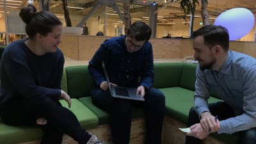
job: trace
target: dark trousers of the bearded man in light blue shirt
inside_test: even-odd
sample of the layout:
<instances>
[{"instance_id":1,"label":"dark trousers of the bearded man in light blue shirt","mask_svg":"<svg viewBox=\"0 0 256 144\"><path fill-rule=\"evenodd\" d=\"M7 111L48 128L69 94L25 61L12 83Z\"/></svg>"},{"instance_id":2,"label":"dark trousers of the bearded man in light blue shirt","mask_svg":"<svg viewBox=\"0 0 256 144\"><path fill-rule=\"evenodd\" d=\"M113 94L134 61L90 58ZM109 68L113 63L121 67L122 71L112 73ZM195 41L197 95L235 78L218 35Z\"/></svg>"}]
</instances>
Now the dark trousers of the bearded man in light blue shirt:
<instances>
[{"instance_id":1,"label":"dark trousers of the bearded man in light blue shirt","mask_svg":"<svg viewBox=\"0 0 256 144\"><path fill-rule=\"evenodd\" d=\"M216 116L218 115L219 120L225 120L227 118L231 118L236 116L234 111L230 106L228 106L225 102L216 102L209 104L209 110L211 114ZM199 117L193 108L189 111L188 118L188 127L191 125L200 123ZM237 144L255 144L256 143L256 128L248 129L246 131L237 132L239 134L239 139ZM202 140L192 137L186 136L186 144L200 144Z\"/></svg>"}]
</instances>

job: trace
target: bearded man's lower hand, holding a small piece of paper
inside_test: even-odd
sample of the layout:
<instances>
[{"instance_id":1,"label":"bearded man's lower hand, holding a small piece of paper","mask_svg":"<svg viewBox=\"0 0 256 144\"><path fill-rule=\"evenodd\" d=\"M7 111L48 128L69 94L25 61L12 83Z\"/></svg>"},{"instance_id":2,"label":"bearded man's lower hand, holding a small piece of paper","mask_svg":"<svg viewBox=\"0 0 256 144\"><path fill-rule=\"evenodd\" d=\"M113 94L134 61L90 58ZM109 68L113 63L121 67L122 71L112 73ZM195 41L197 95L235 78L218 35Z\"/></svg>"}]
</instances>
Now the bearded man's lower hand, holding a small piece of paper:
<instances>
[{"instance_id":1,"label":"bearded man's lower hand, holding a small piece of paper","mask_svg":"<svg viewBox=\"0 0 256 144\"><path fill-rule=\"evenodd\" d=\"M199 138L201 140L210 134L209 130L205 131L200 123L192 125L190 129L191 131L187 133L187 136L194 136L195 138Z\"/></svg>"}]
</instances>

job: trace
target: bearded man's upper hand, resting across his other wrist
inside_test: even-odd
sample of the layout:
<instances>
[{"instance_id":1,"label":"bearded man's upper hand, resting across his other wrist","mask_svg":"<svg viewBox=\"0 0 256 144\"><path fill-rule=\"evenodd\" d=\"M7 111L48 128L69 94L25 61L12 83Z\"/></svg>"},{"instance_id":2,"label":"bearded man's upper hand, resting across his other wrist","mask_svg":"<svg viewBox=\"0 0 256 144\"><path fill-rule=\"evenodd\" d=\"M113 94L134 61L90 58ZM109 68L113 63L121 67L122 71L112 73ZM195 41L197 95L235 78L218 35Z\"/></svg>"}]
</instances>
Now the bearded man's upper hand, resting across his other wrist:
<instances>
[{"instance_id":1,"label":"bearded man's upper hand, resting across his other wrist","mask_svg":"<svg viewBox=\"0 0 256 144\"><path fill-rule=\"evenodd\" d=\"M200 123L204 131L218 132L220 130L220 122L210 112L201 114Z\"/></svg>"}]
</instances>

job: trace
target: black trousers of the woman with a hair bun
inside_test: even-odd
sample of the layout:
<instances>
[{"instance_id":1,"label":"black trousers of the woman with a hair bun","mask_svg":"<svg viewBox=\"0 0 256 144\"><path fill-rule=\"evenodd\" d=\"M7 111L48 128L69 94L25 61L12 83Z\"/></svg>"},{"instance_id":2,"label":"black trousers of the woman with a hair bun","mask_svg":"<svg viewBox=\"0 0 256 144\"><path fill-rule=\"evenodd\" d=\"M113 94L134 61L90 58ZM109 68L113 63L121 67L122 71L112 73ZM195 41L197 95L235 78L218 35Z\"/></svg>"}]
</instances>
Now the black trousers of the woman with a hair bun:
<instances>
[{"instance_id":1,"label":"black trousers of the woman with a hair bun","mask_svg":"<svg viewBox=\"0 0 256 144\"><path fill-rule=\"evenodd\" d=\"M85 144L91 137L72 111L49 97L17 100L1 108L1 119L5 124L36 125L38 118L47 119L46 125L38 125L44 131L41 144L61 144L63 133L79 144Z\"/></svg>"}]
</instances>

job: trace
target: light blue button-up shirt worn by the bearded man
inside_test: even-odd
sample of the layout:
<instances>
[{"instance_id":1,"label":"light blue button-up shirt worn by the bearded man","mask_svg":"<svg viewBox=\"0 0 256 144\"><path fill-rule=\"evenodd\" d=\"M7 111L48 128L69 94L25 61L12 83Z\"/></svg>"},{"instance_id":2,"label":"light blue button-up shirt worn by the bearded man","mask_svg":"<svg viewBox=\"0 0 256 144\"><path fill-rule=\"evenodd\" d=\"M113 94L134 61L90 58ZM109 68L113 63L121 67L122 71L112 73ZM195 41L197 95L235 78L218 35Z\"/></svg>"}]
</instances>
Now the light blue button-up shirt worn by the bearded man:
<instances>
[{"instance_id":1,"label":"light blue button-up shirt worn by the bearded man","mask_svg":"<svg viewBox=\"0 0 256 144\"><path fill-rule=\"evenodd\" d=\"M237 115L220 121L218 133L232 134L256 127L256 59L228 51L220 72L196 68L195 111L209 111L207 99L213 90Z\"/></svg>"}]
</instances>

